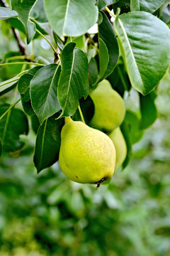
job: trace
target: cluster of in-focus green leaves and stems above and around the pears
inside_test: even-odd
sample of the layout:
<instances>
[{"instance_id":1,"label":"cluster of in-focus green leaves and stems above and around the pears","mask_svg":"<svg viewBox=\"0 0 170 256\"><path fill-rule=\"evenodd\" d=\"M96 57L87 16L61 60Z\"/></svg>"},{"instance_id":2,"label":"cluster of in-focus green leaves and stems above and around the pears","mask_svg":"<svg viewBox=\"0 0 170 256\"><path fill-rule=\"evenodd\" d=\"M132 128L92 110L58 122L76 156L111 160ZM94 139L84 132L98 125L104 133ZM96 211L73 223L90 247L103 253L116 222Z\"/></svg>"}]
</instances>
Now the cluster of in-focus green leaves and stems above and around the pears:
<instances>
[{"instance_id":1,"label":"cluster of in-focus green leaves and stems above and around the pears","mask_svg":"<svg viewBox=\"0 0 170 256\"><path fill-rule=\"evenodd\" d=\"M169 1L0 3L1 28L8 26L19 49L2 56L0 63L0 154L19 154L20 135L33 129L38 172L54 164L63 117L80 119L80 105L89 124L94 114L89 93L108 79L124 99L135 92L139 103L126 112L121 127L128 146L125 168L132 144L157 119L157 85L170 64ZM97 31L91 33L91 26ZM39 37L52 48L53 58L36 55L34 43ZM32 44L31 53L26 44Z\"/></svg>"}]
</instances>

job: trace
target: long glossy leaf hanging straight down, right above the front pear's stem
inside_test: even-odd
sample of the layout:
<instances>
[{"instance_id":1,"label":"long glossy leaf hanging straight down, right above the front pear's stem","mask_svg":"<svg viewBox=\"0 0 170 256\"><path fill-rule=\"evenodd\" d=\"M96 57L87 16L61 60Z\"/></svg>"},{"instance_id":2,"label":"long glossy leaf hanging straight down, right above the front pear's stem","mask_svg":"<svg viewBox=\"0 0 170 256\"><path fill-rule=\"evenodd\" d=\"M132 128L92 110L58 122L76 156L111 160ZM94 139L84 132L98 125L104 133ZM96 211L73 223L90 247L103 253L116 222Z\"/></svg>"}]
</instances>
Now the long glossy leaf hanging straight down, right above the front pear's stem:
<instances>
[{"instance_id":1,"label":"long glossy leaf hanging straight down, right above the front pear's stem","mask_svg":"<svg viewBox=\"0 0 170 256\"><path fill-rule=\"evenodd\" d=\"M79 99L89 93L88 60L85 53L68 43L62 50L62 71L58 84L58 100L63 117L69 117L77 110Z\"/></svg>"}]
</instances>

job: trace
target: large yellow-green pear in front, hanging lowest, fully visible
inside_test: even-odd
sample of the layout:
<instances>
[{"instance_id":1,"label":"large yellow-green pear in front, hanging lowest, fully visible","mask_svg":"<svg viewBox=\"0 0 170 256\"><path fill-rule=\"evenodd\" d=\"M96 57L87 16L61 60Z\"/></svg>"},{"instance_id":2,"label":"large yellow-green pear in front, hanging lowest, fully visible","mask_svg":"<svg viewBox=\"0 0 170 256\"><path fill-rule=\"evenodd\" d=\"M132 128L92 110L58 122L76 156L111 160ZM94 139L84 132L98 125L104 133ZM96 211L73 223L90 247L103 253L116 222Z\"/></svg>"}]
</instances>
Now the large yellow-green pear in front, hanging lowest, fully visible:
<instances>
[{"instance_id":1,"label":"large yellow-green pear in front, hanging lowest, fully visible","mask_svg":"<svg viewBox=\"0 0 170 256\"><path fill-rule=\"evenodd\" d=\"M78 183L100 183L113 176L115 146L101 131L66 117L62 127L59 164Z\"/></svg>"}]
</instances>

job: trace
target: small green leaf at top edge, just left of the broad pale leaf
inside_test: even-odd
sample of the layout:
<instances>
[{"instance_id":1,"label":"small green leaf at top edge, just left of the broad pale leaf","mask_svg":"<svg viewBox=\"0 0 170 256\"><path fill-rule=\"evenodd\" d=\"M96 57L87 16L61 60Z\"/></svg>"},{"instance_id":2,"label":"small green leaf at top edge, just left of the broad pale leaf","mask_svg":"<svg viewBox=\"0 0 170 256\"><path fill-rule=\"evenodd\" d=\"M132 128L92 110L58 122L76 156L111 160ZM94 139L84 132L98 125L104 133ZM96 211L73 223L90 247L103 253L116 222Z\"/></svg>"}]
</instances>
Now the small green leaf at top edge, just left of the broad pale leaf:
<instances>
[{"instance_id":1,"label":"small green leaf at top edge, just left of the broad pale leaf","mask_svg":"<svg viewBox=\"0 0 170 256\"><path fill-rule=\"evenodd\" d=\"M35 2L35 5L30 13L30 17L34 18L40 23L48 22L44 9L44 0L38 0Z\"/></svg>"}]
</instances>

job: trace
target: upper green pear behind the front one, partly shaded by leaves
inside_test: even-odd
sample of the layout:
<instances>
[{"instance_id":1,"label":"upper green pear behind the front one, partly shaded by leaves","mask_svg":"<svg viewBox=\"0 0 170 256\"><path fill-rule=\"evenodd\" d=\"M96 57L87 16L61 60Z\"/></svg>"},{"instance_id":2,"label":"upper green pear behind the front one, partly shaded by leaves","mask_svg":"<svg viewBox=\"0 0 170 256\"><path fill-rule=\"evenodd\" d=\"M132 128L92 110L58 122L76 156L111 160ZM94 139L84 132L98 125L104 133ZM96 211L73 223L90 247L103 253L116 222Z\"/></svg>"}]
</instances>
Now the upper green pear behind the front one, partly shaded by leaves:
<instances>
[{"instance_id":1,"label":"upper green pear behind the front one, partly shaded by leaves","mask_svg":"<svg viewBox=\"0 0 170 256\"><path fill-rule=\"evenodd\" d=\"M125 102L118 92L113 90L110 82L108 80L99 82L90 96L95 106L90 125L104 129L106 132L119 127L125 117Z\"/></svg>"}]
</instances>

